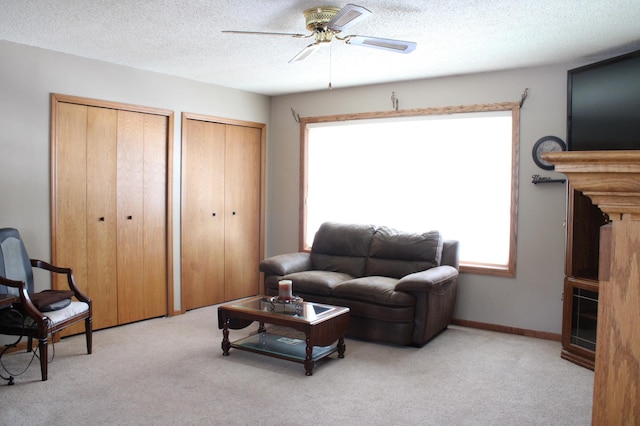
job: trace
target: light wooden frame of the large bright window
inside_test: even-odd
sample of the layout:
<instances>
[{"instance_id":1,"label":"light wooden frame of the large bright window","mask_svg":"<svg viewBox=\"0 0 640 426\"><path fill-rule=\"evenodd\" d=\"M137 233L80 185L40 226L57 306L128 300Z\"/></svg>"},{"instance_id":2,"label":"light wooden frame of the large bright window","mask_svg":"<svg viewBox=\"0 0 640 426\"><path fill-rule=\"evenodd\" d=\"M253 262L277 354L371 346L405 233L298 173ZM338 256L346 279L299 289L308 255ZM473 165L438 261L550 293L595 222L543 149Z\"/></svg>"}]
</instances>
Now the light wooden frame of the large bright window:
<instances>
[{"instance_id":1,"label":"light wooden frame of the large bright window","mask_svg":"<svg viewBox=\"0 0 640 426\"><path fill-rule=\"evenodd\" d=\"M301 171L300 171L300 249L308 251L310 247L306 243L307 241L307 190L308 190L308 130L314 125L319 123L336 123L353 121L353 120L380 120L380 119L394 119L405 117L419 117L419 116L451 116L451 114L469 114L476 112L511 112L511 131L512 131L512 143L511 143L511 203L509 211L509 249L508 249L508 261L504 264L489 264L480 262L471 262L461 259L460 271L466 273L478 273L486 275L497 275L506 277L515 277L516 274L516 236L517 236L517 212L518 212L518 174L519 174L519 145L520 145L520 104L513 102L494 103L494 104L479 104L469 106L457 106L457 107L445 107L445 108L427 108L427 109L415 109L404 111L389 111L389 112L376 112L376 113L361 113L361 114L345 114L323 117L306 117L300 119L300 158L301 158ZM482 160L481 160L482 161ZM485 159L485 161L490 161ZM491 167L490 163L487 167ZM453 173L464 173L459 170L452 170ZM446 177L445 177L446 178ZM474 177L482 179L481 176ZM443 182L443 184L446 182ZM470 220L473 220L473 213L470 212ZM384 225L384 224L383 224ZM491 236L490 227L487 224L487 233ZM426 229L424 231L429 231ZM446 235L445 235L446 237Z\"/></svg>"}]
</instances>

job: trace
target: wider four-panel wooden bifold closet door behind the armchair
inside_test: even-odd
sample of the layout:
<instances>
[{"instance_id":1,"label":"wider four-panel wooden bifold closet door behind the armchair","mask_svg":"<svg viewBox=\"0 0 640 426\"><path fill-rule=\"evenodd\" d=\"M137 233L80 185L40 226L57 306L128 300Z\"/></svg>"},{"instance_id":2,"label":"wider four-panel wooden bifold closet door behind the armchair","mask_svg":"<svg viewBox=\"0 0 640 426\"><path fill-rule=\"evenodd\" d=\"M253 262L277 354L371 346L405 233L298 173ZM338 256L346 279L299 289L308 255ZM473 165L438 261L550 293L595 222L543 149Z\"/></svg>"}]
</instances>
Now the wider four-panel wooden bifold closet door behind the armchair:
<instances>
[{"instance_id":1,"label":"wider four-panel wooden bifold closet door behind the armchair","mask_svg":"<svg viewBox=\"0 0 640 426\"><path fill-rule=\"evenodd\" d=\"M94 329L169 313L171 116L52 95L52 259L91 297Z\"/></svg>"}]
</instances>

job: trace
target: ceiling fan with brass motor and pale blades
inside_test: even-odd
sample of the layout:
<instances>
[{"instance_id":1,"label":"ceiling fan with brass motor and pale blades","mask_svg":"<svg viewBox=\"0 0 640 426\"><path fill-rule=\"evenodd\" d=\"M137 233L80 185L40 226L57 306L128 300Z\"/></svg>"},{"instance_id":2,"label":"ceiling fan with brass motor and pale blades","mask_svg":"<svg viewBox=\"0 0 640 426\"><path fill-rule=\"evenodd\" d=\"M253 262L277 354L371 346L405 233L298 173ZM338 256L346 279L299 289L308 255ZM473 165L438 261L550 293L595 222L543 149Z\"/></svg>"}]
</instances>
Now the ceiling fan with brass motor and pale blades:
<instances>
[{"instance_id":1,"label":"ceiling fan with brass motor and pale blades","mask_svg":"<svg viewBox=\"0 0 640 426\"><path fill-rule=\"evenodd\" d=\"M340 9L334 6L317 6L304 11L304 18L310 34L278 33L262 31L222 31L223 33L235 34L258 34L258 35L284 35L296 38L315 37L315 42L311 43L295 55L289 63L302 61L315 52L319 47L331 43L336 38L347 44L356 46L373 47L397 53L410 53L416 48L416 43L412 41L393 40L379 37L368 37L361 35L339 36L344 30L356 22L371 15L371 11L362 6L347 4Z\"/></svg>"}]
</instances>

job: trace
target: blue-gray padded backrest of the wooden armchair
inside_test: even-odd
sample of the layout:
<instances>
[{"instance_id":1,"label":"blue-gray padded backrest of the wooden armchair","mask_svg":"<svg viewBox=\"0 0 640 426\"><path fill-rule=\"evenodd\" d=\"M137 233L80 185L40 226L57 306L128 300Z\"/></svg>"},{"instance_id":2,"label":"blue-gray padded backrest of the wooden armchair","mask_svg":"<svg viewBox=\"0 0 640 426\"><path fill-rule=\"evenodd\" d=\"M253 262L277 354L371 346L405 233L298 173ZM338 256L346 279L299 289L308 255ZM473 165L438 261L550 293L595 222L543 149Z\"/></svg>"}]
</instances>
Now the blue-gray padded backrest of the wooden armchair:
<instances>
[{"instance_id":1,"label":"blue-gray padded backrest of the wooden armchair","mask_svg":"<svg viewBox=\"0 0 640 426\"><path fill-rule=\"evenodd\" d=\"M0 229L0 276L27 283L27 292L33 293L33 269L20 233L14 228ZM0 285L0 293L18 295L14 287Z\"/></svg>"}]
</instances>

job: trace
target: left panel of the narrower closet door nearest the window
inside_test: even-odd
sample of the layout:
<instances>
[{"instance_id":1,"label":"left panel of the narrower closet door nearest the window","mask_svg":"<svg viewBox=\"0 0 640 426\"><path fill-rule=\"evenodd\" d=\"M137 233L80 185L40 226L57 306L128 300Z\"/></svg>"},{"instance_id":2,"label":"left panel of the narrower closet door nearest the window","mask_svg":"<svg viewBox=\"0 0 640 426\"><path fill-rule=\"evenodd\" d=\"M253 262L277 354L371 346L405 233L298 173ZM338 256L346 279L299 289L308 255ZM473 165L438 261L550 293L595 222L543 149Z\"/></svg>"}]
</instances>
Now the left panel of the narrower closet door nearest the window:
<instances>
[{"instance_id":1,"label":"left panel of the narrower closet door nearest the window","mask_svg":"<svg viewBox=\"0 0 640 426\"><path fill-rule=\"evenodd\" d=\"M186 120L182 297L185 309L224 301L225 126Z\"/></svg>"}]
</instances>

